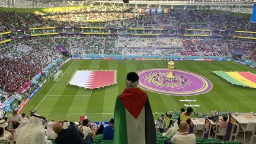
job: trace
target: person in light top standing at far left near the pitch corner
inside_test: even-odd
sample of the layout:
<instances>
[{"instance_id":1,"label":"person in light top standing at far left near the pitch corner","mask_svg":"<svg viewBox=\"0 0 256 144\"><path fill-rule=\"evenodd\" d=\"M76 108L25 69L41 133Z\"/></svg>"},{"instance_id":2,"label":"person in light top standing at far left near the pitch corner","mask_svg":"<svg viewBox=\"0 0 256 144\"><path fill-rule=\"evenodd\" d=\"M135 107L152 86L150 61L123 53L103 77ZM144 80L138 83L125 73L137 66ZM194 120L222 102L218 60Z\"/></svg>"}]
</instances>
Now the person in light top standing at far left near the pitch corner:
<instances>
[{"instance_id":1,"label":"person in light top standing at far left near the pitch corner","mask_svg":"<svg viewBox=\"0 0 256 144\"><path fill-rule=\"evenodd\" d=\"M11 129L16 129L21 120L22 116L18 114L18 110L12 110L12 114L8 116L7 122L9 123Z\"/></svg>"}]
</instances>

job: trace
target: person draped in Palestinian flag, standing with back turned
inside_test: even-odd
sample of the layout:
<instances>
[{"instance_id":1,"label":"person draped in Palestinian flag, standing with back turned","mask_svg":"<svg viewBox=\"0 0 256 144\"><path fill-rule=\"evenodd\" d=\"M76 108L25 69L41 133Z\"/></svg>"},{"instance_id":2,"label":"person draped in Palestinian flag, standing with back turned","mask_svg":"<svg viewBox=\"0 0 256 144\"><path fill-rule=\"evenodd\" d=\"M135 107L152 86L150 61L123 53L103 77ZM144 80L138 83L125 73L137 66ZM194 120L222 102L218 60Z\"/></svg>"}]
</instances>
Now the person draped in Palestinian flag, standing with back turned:
<instances>
[{"instance_id":1,"label":"person draped in Palestinian flag, standing with back turned","mask_svg":"<svg viewBox=\"0 0 256 144\"><path fill-rule=\"evenodd\" d=\"M126 89L117 96L114 111L115 144L155 144L156 130L151 105L146 92L136 88L139 76L129 72Z\"/></svg>"}]
</instances>

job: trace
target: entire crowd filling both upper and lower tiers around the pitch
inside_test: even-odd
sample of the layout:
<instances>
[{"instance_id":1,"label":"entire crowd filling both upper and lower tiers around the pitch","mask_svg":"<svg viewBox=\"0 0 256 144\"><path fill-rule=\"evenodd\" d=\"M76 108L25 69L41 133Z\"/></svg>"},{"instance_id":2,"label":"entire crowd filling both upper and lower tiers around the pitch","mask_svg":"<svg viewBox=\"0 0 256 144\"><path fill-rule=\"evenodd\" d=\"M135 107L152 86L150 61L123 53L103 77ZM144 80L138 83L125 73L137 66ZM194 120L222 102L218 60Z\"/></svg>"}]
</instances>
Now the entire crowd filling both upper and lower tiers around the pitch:
<instances>
[{"instance_id":1,"label":"entire crowd filling both upper and lower tiers around the pitch","mask_svg":"<svg viewBox=\"0 0 256 144\"><path fill-rule=\"evenodd\" d=\"M31 27L100 26L106 28L199 28L255 30L249 17L223 15L207 10L169 9L167 14L141 13L123 7L81 7L62 11L20 13L0 11L0 32ZM91 23L89 21L98 21ZM93 33L94 30L85 29ZM106 33L108 30L101 30ZM163 32L164 33L164 32ZM169 32L168 32L169 33ZM5 37L1 36L1 41ZM243 59L255 62L255 43L223 39L178 39L173 37L60 37L34 41L18 40L1 46L0 88L2 95L17 91L42 68L60 57L55 46L63 45L73 55L227 56L243 50ZM7 96L8 98L9 96Z\"/></svg>"}]
</instances>

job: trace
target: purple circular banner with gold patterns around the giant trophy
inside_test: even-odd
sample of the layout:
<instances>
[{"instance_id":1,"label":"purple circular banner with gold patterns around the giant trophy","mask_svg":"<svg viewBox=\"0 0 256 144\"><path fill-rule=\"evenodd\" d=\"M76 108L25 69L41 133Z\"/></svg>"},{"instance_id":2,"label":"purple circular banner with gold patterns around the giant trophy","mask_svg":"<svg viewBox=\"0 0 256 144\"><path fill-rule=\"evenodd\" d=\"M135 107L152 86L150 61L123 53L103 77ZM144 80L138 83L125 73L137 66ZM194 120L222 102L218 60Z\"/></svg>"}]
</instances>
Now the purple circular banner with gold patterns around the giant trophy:
<instances>
[{"instance_id":1,"label":"purple circular banner with gold patterns around the giant trophy","mask_svg":"<svg viewBox=\"0 0 256 144\"><path fill-rule=\"evenodd\" d=\"M167 81L168 69L143 69L138 71L138 87L165 95L199 95L209 92L213 85L209 79L193 72L175 69L174 81Z\"/></svg>"}]
</instances>

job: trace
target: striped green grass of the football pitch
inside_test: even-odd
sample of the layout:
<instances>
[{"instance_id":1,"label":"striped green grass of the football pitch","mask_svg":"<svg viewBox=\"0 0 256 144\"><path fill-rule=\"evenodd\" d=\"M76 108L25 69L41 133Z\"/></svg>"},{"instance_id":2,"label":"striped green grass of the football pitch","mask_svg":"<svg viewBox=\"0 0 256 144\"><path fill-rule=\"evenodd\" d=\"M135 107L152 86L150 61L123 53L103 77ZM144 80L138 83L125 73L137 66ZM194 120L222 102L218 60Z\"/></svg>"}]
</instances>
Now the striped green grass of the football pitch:
<instances>
[{"instance_id":1,"label":"striped green grass of the football pitch","mask_svg":"<svg viewBox=\"0 0 256 144\"><path fill-rule=\"evenodd\" d=\"M47 119L58 121L78 121L79 116L88 116L92 121L108 121L113 117L117 95L125 87L127 72L149 68L167 68L166 60L70 60L62 66L63 76L59 81L47 81L46 84L28 101L21 113L29 114L35 110ZM72 73L82 69L117 70L118 83L113 87L94 89L69 87L66 82ZM210 92L188 97L162 95L148 92L153 113L179 110L184 104L200 104L194 107L199 113L210 113L212 110L250 112L256 111L256 89L243 88L228 84L210 71L251 71L255 69L236 62L221 61L175 61L175 69L198 73L209 79L213 88ZM180 102L180 100L196 102Z\"/></svg>"}]
</instances>

